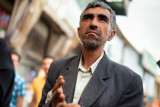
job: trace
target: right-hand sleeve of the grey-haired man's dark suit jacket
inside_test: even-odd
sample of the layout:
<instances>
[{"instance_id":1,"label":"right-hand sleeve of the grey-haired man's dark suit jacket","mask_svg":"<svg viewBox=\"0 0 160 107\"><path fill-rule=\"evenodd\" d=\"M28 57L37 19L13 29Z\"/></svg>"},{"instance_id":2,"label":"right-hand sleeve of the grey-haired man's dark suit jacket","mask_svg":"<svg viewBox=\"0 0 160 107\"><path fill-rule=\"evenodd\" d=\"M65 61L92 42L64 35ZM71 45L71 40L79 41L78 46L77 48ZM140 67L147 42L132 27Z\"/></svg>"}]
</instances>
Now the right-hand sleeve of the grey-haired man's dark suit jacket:
<instances>
[{"instance_id":1,"label":"right-hand sleeve of the grey-haired man's dark suit jacket","mask_svg":"<svg viewBox=\"0 0 160 107\"><path fill-rule=\"evenodd\" d=\"M131 81L116 107L143 107L143 83L139 75Z\"/></svg>"}]
</instances>

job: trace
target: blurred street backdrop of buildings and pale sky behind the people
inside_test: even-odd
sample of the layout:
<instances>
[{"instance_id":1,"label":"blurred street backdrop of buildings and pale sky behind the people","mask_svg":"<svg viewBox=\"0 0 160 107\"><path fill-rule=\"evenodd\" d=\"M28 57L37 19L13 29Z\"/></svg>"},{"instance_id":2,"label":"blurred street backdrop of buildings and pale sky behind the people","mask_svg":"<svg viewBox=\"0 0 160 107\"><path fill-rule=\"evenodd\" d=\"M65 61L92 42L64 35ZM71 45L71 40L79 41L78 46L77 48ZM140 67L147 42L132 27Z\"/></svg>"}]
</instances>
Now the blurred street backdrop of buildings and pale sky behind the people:
<instances>
[{"instance_id":1,"label":"blurred street backdrop of buildings and pale sky behind the people","mask_svg":"<svg viewBox=\"0 0 160 107\"><path fill-rule=\"evenodd\" d=\"M95 0L0 0L0 37L21 55L19 74L28 89L44 56L81 52L79 16ZM144 107L160 99L160 1L102 0L117 14L116 36L104 50L143 79ZM24 107L31 100L26 95Z\"/></svg>"}]
</instances>

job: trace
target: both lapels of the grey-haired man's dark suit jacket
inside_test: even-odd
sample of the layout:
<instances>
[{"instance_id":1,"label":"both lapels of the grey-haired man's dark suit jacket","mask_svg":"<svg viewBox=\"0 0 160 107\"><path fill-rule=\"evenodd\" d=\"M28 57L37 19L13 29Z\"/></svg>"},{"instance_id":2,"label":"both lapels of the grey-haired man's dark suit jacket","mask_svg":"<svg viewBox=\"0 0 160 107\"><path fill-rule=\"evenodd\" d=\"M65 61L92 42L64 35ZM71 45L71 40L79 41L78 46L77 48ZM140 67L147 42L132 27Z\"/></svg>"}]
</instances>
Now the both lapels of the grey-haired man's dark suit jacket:
<instances>
[{"instance_id":1,"label":"both lapels of the grey-haired man's dark suit jacket","mask_svg":"<svg viewBox=\"0 0 160 107\"><path fill-rule=\"evenodd\" d=\"M67 103L71 103L73 101L79 61L80 55L71 60L66 71L62 72L62 75L65 79L63 91ZM88 85L85 87L81 95L81 99L79 101L81 105L85 105L87 107L91 106L107 88L108 84L104 82L104 80L107 80L111 77L109 72L109 64L110 60L108 59L106 53L104 53L103 58L99 62Z\"/></svg>"}]
</instances>

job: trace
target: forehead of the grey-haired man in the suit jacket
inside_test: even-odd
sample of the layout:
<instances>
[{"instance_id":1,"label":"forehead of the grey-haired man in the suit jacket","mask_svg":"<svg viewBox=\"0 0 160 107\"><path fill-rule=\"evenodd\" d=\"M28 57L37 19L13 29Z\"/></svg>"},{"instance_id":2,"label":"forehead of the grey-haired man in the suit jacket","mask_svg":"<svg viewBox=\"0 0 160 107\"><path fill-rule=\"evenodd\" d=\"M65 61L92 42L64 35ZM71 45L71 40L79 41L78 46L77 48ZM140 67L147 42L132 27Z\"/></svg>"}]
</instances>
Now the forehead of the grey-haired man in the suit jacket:
<instances>
[{"instance_id":1,"label":"forehead of the grey-haired man in the suit jacket","mask_svg":"<svg viewBox=\"0 0 160 107\"><path fill-rule=\"evenodd\" d=\"M110 11L107 10L107 9L105 9L105 8L102 8L102 7L89 8L89 9L87 9L87 10L83 13L82 17L83 17L85 14L88 14L88 13L93 14L93 15L103 14L103 15L108 16L108 18L111 17Z\"/></svg>"}]
</instances>

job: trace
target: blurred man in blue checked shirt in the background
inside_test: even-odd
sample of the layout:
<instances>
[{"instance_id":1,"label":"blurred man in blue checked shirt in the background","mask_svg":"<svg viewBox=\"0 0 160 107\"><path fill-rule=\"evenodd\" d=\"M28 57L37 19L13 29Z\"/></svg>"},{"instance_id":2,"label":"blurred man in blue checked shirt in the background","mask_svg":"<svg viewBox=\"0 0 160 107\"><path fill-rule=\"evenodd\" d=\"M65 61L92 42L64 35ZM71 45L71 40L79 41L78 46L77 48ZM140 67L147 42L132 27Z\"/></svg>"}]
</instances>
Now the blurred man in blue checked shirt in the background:
<instances>
[{"instance_id":1,"label":"blurred man in blue checked shirt in the background","mask_svg":"<svg viewBox=\"0 0 160 107\"><path fill-rule=\"evenodd\" d=\"M22 107L23 98L26 92L26 82L16 71L20 63L20 55L17 52L12 51L11 58L15 69L15 78L10 107Z\"/></svg>"}]
</instances>

